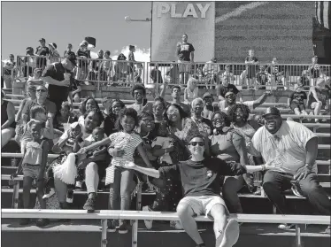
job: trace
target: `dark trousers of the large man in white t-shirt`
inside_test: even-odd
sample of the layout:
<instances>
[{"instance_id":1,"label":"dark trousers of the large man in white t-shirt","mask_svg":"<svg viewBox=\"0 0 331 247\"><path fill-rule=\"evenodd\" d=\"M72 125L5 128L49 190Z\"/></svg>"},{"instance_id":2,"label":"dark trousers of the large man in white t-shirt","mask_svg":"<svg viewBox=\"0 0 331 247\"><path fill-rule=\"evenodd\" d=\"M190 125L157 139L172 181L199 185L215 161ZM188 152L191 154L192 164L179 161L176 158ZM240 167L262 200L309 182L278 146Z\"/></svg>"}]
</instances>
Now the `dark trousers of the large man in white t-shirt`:
<instances>
[{"instance_id":1,"label":"dark trousers of the large man in white t-shirt","mask_svg":"<svg viewBox=\"0 0 331 247\"><path fill-rule=\"evenodd\" d=\"M282 214L291 213L282 192L292 187L290 182L292 180L294 179L291 174L283 174L271 170L267 171L264 177L263 189L266 192L266 196ZM298 182L298 185L298 191L307 198L316 212L330 215L330 200L325 190L319 185L317 174L308 174L305 179Z\"/></svg>"}]
</instances>

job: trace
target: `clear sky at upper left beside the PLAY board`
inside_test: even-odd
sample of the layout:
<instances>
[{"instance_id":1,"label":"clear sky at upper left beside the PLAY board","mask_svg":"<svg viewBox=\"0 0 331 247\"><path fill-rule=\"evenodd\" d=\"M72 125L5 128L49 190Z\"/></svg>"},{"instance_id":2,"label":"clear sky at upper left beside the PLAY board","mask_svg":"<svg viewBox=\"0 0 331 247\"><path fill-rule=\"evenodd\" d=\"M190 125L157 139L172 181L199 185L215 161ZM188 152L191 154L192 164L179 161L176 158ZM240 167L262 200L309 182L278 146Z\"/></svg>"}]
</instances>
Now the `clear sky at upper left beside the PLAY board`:
<instances>
[{"instance_id":1,"label":"clear sky at upper left beside the PLAY board","mask_svg":"<svg viewBox=\"0 0 331 247\"><path fill-rule=\"evenodd\" d=\"M25 55L38 40L55 42L61 56L68 42L73 51L84 37L96 38L96 50L110 50L112 56L127 50L150 48L150 22L127 22L150 18L151 2L2 2L2 59L9 54ZM127 56L127 54L125 54ZM136 59L137 60L137 59Z\"/></svg>"}]
</instances>

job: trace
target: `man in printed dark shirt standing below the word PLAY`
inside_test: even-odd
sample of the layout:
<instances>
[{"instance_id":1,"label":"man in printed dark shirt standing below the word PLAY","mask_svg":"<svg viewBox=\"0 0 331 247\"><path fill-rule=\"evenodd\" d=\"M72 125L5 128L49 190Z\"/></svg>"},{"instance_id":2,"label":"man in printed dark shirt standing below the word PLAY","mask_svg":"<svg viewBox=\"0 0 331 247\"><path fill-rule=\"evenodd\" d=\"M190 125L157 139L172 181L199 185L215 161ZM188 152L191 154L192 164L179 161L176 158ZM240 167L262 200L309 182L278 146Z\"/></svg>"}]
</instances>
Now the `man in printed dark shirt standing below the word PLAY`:
<instances>
[{"instance_id":1,"label":"man in printed dark shirt standing below the word PLAY","mask_svg":"<svg viewBox=\"0 0 331 247\"><path fill-rule=\"evenodd\" d=\"M181 84L186 84L189 80L191 63L194 63L194 47L188 42L188 35L181 36L181 42L177 43L176 55L178 57ZM189 58L190 57L190 58Z\"/></svg>"}]
</instances>

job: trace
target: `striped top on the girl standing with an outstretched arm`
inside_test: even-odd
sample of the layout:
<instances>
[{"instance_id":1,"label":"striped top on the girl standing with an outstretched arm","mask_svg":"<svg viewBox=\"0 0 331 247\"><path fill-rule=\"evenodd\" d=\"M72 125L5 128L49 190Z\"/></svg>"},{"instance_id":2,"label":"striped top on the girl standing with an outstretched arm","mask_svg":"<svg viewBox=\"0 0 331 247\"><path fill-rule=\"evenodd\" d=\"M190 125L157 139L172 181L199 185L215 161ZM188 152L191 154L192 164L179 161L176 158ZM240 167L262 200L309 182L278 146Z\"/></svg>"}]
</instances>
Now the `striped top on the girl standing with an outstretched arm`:
<instances>
[{"instance_id":1,"label":"striped top on the girl standing with an outstretched arm","mask_svg":"<svg viewBox=\"0 0 331 247\"><path fill-rule=\"evenodd\" d=\"M135 133L127 134L121 131L109 135L109 139L112 142L112 146L125 151L122 157L112 158L112 165L122 166L125 162L134 162L135 149L142 143L142 138L139 135Z\"/></svg>"}]
</instances>

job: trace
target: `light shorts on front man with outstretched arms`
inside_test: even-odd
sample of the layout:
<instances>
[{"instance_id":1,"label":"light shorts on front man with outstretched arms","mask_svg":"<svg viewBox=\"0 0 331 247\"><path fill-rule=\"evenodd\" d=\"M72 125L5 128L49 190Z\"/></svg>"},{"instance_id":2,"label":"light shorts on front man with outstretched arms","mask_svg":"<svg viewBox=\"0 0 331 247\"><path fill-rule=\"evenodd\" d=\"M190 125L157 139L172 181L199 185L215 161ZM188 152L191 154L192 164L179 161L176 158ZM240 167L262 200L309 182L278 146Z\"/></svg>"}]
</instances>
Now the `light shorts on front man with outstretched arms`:
<instances>
[{"instance_id":1,"label":"light shorts on front man with outstretched arms","mask_svg":"<svg viewBox=\"0 0 331 247\"><path fill-rule=\"evenodd\" d=\"M227 215L229 214L226 203L223 198L219 196L184 197L178 205L181 204L190 205L196 215L204 214L205 217L210 215L214 205L223 205L226 209Z\"/></svg>"}]
</instances>

